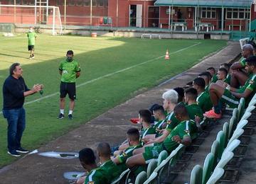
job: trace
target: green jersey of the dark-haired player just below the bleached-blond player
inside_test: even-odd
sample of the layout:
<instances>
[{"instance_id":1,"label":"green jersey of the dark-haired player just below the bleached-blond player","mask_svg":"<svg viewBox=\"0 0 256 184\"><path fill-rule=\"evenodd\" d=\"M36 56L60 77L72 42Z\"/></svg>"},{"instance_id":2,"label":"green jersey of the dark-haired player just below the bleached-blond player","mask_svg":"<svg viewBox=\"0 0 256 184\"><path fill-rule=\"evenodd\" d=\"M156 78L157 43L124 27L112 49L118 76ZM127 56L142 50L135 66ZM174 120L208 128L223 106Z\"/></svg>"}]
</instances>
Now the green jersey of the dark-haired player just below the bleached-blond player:
<instances>
[{"instance_id":1,"label":"green jersey of the dark-haired player just below the bleached-blond player","mask_svg":"<svg viewBox=\"0 0 256 184\"><path fill-rule=\"evenodd\" d=\"M178 135L179 137L181 137L181 139L183 139L185 135L190 136L190 134L193 132L192 126L192 120L185 120L183 122L180 122L176 127L174 127L174 130L171 131L171 133L162 143L164 144L165 149L167 149L169 152L176 149L178 143L173 141L173 137L175 135Z\"/></svg>"}]
</instances>

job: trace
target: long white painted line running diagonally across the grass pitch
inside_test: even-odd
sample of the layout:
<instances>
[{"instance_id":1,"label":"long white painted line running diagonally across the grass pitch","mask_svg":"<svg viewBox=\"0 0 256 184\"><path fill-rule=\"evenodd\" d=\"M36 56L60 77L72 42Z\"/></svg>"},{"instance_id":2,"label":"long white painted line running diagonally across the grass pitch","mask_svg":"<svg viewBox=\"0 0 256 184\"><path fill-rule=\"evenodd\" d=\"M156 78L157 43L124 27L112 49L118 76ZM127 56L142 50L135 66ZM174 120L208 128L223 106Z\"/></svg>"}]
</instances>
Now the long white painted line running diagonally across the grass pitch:
<instances>
[{"instance_id":1,"label":"long white painted line running diagonally across the grass pitch","mask_svg":"<svg viewBox=\"0 0 256 184\"><path fill-rule=\"evenodd\" d=\"M176 54L176 53L181 52L181 51L183 51L183 50L188 50L188 49L191 48L191 47L195 47L196 45L199 45L199 44L201 44L201 42L197 42L196 44L191 45L191 46L188 46L188 47L185 47L185 48L183 48L183 49L181 49L181 50L176 50L176 51L174 51L174 52L170 52L169 54ZM106 77L108 77L108 76L112 76L112 75L114 75L114 74L119 74L119 73L121 73L121 72L123 72L123 71L127 71L128 69L133 69L133 68L138 67L138 66L140 66L140 65L143 65L143 64L146 64L146 63L149 63L149 62L154 62L155 60L160 59L161 57L164 57L164 56L165 56L165 55L159 56L159 57L156 57L156 58L154 58L154 59L149 59L149 60L147 60L146 62L142 62L142 63L139 63L139 64L134 64L132 67L127 67L127 68L125 68L125 69L120 69L120 70L118 70L118 71L114 71L114 72L111 73L111 74L106 74L106 75L104 75L104 76L97 77L96 79L92 79L92 80L87 81L87 82L84 82L84 83L82 83L82 84L78 84L76 87L79 88L80 86L85 86L85 85L87 85L87 84L90 84L90 83L92 83L92 82L98 81L98 80L100 80L100 79L104 79L104 78L106 78ZM31 103L35 103L35 102L38 102L38 101L40 101L40 100L43 100L43 99L46 99L46 98L50 98L50 97L52 97L52 96L56 96L56 95L58 95L58 94L59 94L59 92L52 93L52 94L50 94L50 95L48 95L48 96L43 96L43 97L38 98L38 99L36 99L36 100L32 100L32 101L26 102L26 103L24 103L24 105L28 105L28 104L31 104ZM0 112L0 114L1 114L1 113L2 113L2 112Z\"/></svg>"}]
</instances>

